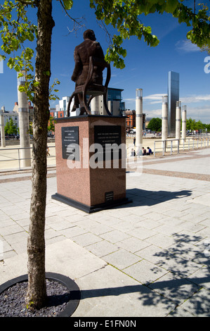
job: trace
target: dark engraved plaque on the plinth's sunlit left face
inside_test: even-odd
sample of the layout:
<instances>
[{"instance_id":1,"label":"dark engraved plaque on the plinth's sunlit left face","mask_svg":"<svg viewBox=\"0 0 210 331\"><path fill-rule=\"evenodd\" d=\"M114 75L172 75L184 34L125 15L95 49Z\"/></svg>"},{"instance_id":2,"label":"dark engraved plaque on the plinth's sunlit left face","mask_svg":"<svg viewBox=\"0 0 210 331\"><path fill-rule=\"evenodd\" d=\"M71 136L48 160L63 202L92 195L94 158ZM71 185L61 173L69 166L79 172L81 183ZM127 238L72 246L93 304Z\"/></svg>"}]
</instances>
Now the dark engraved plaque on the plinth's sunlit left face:
<instances>
[{"instance_id":1,"label":"dark engraved plaque on the plinth's sunlit left face","mask_svg":"<svg viewBox=\"0 0 210 331\"><path fill-rule=\"evenodd\" d=\"M63 158L79 161L79 127L61 127Z\"/></svg>"}]
</instances>

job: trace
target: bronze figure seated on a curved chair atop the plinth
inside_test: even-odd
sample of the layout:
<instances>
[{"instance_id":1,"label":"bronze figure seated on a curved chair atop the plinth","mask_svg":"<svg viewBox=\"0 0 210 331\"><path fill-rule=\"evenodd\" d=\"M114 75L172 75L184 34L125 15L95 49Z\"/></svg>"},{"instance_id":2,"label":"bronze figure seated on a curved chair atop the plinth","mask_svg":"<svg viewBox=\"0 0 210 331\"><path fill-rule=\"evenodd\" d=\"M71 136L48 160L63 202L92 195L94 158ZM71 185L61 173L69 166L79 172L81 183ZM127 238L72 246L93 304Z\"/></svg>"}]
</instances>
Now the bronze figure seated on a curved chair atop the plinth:
<instances>
[{"instance_id":1,"label":"bronze figure seated on a curved chair atop the plinth","mask_svg":"<svg viewBox=\"0 0 210 331\"><path fill-rule=\"evenodd\" d=\"M76 83L75 90L70 97L67 106L67 116L70 115L70 104L74 98L72 111L80 107L80 114L90 114L89 104L94 96L103 95L105 110L112 115L107 108L107 86L110 82L110 64L105 61L103 49L93 30L84 32L84 42L74 49L75 67L72 80ZM107 68L107 78L103 86L103 70ZM87 100L88 96L88 100Z\"/></svg>"}]
</instances>

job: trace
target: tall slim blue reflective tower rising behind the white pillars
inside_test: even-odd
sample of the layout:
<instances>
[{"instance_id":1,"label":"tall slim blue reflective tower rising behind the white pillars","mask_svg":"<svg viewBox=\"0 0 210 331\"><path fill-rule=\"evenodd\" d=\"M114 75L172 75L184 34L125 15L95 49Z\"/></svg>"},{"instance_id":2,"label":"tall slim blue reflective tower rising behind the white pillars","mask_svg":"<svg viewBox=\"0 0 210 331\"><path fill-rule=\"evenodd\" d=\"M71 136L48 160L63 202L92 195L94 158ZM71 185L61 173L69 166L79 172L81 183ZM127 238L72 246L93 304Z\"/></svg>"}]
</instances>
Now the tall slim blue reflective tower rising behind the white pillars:
<instances>
[{"instance_id":1,"label":"tall slim blue reflective tower rising behind the white pillars","mask_svg":"<svg viewBox=\"0 0 210 331\"><path fill-rule=\"evenodd\" d=\"M169 137L176 135L176 101L179 101L179 73L169 71L168 75L168 109Z\"/></svg>"}]
</instances>

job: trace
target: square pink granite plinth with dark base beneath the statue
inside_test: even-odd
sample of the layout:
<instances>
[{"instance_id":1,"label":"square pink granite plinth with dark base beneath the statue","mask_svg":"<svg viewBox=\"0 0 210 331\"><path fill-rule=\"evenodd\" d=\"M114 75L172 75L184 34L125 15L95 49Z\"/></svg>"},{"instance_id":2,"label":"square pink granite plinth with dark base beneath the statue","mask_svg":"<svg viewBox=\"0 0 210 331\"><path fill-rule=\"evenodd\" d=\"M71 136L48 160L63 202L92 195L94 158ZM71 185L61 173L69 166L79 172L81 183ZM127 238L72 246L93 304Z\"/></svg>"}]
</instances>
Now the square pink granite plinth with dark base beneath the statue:
<instances>
[{"instance_id":1,"label":"square pink granite plinth with dark base beneath the statue","mask_svg":"<svg viewBox=\"0 0 210 331\"><path fill-rule=\"evenodd\" d=\"M56 120L57 193L53 199L88 213L129 202L124 155L120 156L118 164L114 163L114 156L111 157L107 167L105 160L100 159L101 154L93 148L96 135L100 137L100 127L107 142L117 141L125 146L125 125L125 118L115 116L84 115ZM114 137L111 140L106 138L109 132ZM97 139L97 143L99 141Z\"/></svg>"}]
</instances>

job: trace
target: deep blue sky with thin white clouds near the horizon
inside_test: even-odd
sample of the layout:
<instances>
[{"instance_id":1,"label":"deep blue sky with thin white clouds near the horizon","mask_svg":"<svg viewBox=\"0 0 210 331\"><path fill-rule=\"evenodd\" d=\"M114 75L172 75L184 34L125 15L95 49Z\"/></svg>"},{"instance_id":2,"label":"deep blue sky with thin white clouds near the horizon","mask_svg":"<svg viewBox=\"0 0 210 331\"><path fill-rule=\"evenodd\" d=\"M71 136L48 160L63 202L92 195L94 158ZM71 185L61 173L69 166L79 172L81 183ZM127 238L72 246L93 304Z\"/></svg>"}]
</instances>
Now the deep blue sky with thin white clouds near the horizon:
<instances>
[{"instance_id":1,"label":"deep blue sky with thin white clouds near the horizon","mask_svg":"<svg viewBox=\"0 0 210 331\"><path fill-rule=\"evenodd\" d=\"M198 1L199 2L199 1ZM193 3L189 0L188 4ZM35 14L34 15L35 18ZM58 96L70 96L74 90L71 81L74 70L74 47L83 41L83 32L93 29L96 38L105 53L109 46L105 32L96 23L94 11L89 8L88 0L74 0L70 11L73 18L84 16L85 27L80 28L77 34L72 30L72 22L68 18L58 1L53 0L53 28L51 80L60 80ZM187 117L210 123L210 73L204 72L204 66L210 63L206 52L201 52L186 39L189 27L178 24L172 15L150 14L141 18L145 25L152 27L152 33L159 38L157 47L150 47L137 38L124 42L127 56L124 59L126 68L123 70L112 65L110 87L124 89L122 99L126 108L135 109L136 89L143 89L143 113L147 117L161 117L162 95L167 94L169 71L180 75L180 101L187 106ZM111 27L108 27L113 32ZM208 57L208 58L207 58ZM206 59L207 62L204 62ZM210 71L210 65L207 67ZM0 107L5 106L12 111L15 101L18 101L17 75L9 70L4 63L4 73L0 68ZM51 106L58 101L51 101Z\"/></svg>"}]
</instances>

